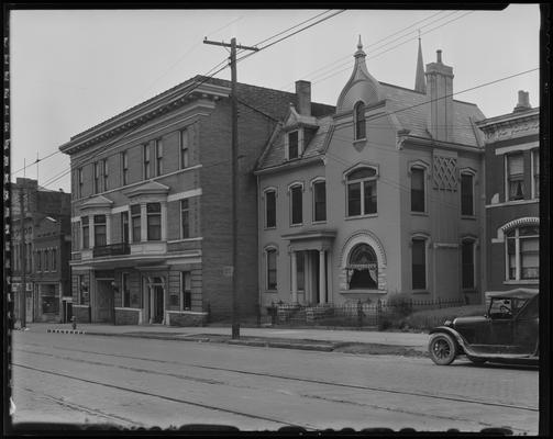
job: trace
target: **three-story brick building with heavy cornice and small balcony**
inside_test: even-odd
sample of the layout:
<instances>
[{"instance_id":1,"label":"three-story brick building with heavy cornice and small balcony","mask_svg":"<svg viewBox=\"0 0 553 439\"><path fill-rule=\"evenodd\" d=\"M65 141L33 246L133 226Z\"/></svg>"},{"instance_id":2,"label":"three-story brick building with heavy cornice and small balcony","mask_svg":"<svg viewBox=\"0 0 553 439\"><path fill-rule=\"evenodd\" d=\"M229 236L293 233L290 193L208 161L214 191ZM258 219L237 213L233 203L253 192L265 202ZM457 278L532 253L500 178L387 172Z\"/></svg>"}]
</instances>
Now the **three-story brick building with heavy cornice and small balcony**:
<instances>
[{"instance_id":1,"label":"three-story brick building with heavy cornice and small balcony","mask_svg":"<svg viewBox=\"0 0 553 439\"><path fill-rule=\"evenodd\" d=\"M80 322L199 324L232 309L230 82L195 77L80 133L71 162ZM239 83L239 296L257 311L252 170L296 95ZM313 104L314 114L330 112Z\"/></svg>"}]
</instances>

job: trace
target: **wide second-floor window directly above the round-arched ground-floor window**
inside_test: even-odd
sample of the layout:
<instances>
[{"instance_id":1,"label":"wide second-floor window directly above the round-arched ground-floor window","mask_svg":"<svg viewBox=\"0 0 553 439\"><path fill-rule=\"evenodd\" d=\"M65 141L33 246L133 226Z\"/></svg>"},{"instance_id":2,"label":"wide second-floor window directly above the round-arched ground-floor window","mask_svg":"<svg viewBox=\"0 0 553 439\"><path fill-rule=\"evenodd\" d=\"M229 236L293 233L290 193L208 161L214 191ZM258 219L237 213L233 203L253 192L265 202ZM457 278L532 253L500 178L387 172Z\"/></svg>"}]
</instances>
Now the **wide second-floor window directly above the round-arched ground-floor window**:
<instances>
[{"instance_id":1,"label":"wide second-floor window directly above the round-arched ground-floor window","mask_svg":"<svg viewBox=\"0 0 553 439\"><path fill-rule=\"evenodd\" d=\"M374 214L376 209L376 170L354 170L347 176L347 216Z\"/></svg>"}]
</instances>

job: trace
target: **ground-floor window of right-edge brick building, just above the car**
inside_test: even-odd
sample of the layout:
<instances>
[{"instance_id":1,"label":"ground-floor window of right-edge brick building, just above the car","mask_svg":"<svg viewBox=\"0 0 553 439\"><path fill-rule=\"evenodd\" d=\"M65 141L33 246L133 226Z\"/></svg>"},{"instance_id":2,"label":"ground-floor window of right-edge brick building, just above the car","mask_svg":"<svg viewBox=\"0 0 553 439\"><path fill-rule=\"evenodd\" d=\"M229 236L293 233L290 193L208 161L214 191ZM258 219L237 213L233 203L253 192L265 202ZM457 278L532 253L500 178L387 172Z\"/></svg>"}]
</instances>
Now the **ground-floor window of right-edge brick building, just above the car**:
<instances>
[{"instance_id":1,"label":"ground-floor window of right-edge brick building, just above the car","mask_svg":"<svg viewBox=\"0 0 553 439\"><path fill-rule=\"evenodd\" d=\"M540 229L538 226L513 228L507 236L508 280L540 277Z\"/></svg>"}]
</instances>

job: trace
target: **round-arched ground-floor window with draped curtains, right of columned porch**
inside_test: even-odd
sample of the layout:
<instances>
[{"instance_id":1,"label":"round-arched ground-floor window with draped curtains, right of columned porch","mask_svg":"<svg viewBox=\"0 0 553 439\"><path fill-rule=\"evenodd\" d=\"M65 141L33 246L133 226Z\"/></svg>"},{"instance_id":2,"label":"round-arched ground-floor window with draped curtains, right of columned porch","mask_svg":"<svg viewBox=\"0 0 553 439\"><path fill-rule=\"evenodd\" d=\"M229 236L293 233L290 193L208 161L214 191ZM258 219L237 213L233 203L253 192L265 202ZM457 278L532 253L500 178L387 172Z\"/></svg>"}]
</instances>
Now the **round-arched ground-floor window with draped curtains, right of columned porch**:
<instances>
[{"instance_id":1,"label":"round-arched ground-floor window with draped curtains, right of columned porch","mask_svg":"<svg viewBox=\"0 0 553 439\"><path fill-rule=\"evenodd\" d=\"M346 269L350 290L378 288L378 262L368 244L357 244L352 249Z\"/></svg>"}]
</instances>

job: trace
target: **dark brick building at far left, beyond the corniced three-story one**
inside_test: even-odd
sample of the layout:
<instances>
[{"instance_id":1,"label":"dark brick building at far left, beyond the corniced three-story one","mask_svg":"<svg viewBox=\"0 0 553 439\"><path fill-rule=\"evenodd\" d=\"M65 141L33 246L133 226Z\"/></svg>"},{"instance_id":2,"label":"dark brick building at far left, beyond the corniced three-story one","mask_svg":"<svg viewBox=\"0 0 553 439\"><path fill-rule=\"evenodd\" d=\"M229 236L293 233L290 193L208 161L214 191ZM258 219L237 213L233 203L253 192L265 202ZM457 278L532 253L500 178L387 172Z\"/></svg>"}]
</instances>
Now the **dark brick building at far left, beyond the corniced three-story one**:
<instances>
[{"instance_id":1,"label":"dark brick building at far left, beyond the corniced three-story one","mask_svg":"<svg viewBox=\"0 0 553 439\"><path fill-rule=\"evenodd\" d=\"M41 188L36 180L18 178L11 187L12 293L20 318L22 246L25 245L26 322L60 322L70 303L70 194ZM21 239L20 193L25 221ZM65 311L65 313L64 313ZM70 317L70 315L69 315Z\"/></svg>"}]
</instances>

